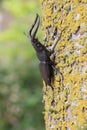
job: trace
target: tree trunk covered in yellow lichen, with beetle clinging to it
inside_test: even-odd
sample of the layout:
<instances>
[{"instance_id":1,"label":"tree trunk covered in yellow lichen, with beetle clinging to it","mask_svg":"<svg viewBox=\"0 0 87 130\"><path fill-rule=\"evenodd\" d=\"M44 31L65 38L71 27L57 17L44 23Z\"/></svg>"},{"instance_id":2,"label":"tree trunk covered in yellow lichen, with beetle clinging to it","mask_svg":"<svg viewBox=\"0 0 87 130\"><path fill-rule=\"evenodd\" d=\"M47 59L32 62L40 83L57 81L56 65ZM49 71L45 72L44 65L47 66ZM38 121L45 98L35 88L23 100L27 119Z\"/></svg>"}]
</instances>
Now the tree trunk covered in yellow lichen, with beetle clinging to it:
<instances>
[{"instance_id":1,"label":"tree trunk covered in yellow lichen, with beetle clinging to it","mask_svg":"<svg viewBox=\"0 0 87 130\"><path fill-rule=\"evenodd\" d=\"M55 48L52 84L43 87L46 130L87 130L87 0L41 0L44 44Z\"/></svg>"}]
</instances>

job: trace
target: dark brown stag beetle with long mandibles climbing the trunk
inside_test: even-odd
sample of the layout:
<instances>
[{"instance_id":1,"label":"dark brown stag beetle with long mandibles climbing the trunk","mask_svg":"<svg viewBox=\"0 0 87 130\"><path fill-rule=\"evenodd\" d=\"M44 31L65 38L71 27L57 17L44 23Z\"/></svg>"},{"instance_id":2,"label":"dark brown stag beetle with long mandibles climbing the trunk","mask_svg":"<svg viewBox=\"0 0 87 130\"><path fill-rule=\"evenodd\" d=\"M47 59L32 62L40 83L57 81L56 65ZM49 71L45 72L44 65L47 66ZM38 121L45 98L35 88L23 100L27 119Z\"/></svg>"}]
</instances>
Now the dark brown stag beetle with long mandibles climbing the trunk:
<instances>
[{"instance_id":1,"label":"dark brown stag beetle with long mandibles climbing the trunk","mask_svg":"<svg viewBox=\"0 0 87 130\"><path fill-rule=\"evenodd\" d=\"M53 76L53 68L55 67L50 56L53 53L53 50L57 42L55 43L51 51L49 51L43 44L41 44L38 38L36 38L36 33L38 31L39 25L40 25L40 17L38 14L36 14L35 21L29 29L28 38L30 39L36 51L37 57L40 61L39 66L42 78L45 81L46 86L47 85L52 86L51 79Z\"/></svg>"}]
</instances>

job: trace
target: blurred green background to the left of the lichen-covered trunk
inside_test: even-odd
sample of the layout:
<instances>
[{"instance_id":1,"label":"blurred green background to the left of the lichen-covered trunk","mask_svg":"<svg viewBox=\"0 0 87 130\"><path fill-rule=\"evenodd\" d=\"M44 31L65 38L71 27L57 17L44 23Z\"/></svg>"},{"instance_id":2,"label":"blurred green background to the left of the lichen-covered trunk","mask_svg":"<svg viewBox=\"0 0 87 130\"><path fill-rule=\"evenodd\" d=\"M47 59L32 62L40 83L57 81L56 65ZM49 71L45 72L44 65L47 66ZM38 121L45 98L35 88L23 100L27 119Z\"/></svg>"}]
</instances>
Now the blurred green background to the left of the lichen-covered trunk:
<instances>
[{"instance_id":1,"label":"blurred green background to the left of the lichen-covered trunk","mask_svg":"<svg viewBox=\"0 0 87 130\"><path fill-rule=\"evenodd\" d=\"M36 13L39 0L0 0L0 130L44 130L39 62L23 34Z\"/></svg>"}]
</instances>

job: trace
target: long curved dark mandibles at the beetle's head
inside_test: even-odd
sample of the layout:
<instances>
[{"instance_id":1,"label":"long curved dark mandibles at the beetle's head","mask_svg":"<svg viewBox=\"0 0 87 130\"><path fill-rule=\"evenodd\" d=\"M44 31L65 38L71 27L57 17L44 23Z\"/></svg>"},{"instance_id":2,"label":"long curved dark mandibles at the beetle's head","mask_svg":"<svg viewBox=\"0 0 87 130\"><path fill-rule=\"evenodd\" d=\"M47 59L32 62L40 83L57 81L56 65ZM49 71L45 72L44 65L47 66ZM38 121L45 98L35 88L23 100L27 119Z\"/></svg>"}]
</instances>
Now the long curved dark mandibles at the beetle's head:
<instances>
[{"instance_id":1,"label":"long curved dark mandibles at the beetle's head","mask_svg":"<svg viewBox=\"0 0 87 130\"><path fill-rule=\"evenodd\" d=\"M37 21L38 21L38 22L37 22ZM31 34L32 31L33 31L33 28L34 28L35 25L36 25L36 23L37 23L37 26L36 26L36 28L35 28L33 34ZM32 24L32 26L31 26L31 28L30 28L30 30L29 30L29 39L34 39L34 38L35 38L36 33L37 33L37 31L38 31L38 28L39 28L39 24L40 24L40 17L39 17L38 14L36 14L36 19L35 19L34 23Z\"/></svg>"}]
</instances>

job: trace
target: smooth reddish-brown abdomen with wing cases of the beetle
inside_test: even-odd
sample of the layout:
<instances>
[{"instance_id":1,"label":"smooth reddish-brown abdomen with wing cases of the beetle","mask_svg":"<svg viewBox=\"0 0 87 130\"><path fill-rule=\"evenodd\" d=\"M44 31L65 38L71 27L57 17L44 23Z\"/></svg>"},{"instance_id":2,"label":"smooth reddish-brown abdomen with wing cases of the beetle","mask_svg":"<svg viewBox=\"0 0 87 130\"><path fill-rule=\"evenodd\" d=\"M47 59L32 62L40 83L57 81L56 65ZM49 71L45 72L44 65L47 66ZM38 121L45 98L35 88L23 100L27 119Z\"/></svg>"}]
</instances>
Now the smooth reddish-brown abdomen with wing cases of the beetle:
<instances>
[{"instance_id":1,"label":"smooth reddish-brown abdomen with wing cases of the beetle","mask_svg":"<svg viewBox=\"0 0 87 130\"><path fill-rule=\"evenodd\" d=\"M48 62L40 62L40 71L46 85L51 86L52 66Z\"/></svg>"}]
</instances>

